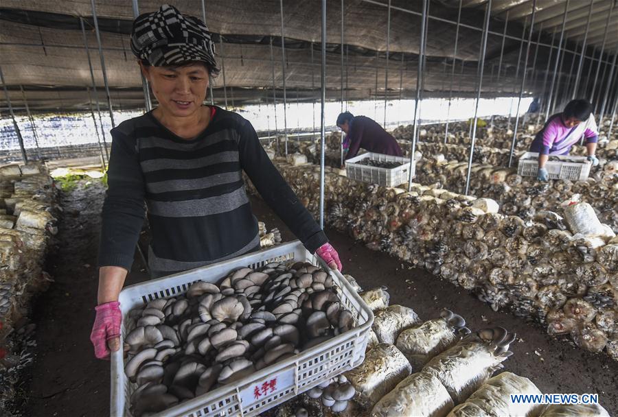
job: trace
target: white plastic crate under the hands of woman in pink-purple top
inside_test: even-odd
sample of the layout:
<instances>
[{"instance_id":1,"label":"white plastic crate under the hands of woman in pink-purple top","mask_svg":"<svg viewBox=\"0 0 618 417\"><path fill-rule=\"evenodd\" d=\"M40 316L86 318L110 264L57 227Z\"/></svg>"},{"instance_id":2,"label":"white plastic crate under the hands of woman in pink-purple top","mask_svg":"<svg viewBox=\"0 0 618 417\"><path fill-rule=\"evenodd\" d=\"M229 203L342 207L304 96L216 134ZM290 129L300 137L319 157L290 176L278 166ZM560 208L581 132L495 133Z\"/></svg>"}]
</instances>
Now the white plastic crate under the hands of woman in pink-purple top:
<instances>
[{"instance_id":1,"label":"white plastic crate under the hands of woman in pink-purple top","mask_svg":"<svg viewBox=\"0 0 618 417\"><path fill-rule=\"evenodd\" d=\"M550 155L555 157L558 155ZM586 156L558 156L560 159L577 160L580 162L568 162L567 160L548 160L545 169L550 180L583 181L590 174L592 163L586 160ZM525 152L519 158L517 174L520 176L536 177L538 171L538 152Z\"/></svg>"}]
</instances>

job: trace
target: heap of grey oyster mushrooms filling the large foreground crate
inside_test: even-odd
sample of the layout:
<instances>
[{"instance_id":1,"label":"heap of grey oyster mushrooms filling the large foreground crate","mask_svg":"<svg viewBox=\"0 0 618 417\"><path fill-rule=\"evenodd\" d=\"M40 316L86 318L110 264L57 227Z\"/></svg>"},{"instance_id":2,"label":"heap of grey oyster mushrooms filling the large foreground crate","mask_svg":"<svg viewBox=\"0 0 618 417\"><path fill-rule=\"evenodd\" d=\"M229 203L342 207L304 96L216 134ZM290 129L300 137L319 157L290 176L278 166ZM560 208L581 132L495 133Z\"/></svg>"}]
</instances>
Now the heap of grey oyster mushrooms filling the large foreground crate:
<instances>
[{"instance_id":1,"label":"heap of grey oyster mushrooms filling the large foreground crate","mask_svg":"<svg viewBox=\"0 0 618 417\"><path fill-rule=\"evenodd\" d=\"M161 412L352 329L336 291L310 263L268 263L131 310L124 342L125 373L137 383L133 415Z\"/></svg>"}]
</instances>

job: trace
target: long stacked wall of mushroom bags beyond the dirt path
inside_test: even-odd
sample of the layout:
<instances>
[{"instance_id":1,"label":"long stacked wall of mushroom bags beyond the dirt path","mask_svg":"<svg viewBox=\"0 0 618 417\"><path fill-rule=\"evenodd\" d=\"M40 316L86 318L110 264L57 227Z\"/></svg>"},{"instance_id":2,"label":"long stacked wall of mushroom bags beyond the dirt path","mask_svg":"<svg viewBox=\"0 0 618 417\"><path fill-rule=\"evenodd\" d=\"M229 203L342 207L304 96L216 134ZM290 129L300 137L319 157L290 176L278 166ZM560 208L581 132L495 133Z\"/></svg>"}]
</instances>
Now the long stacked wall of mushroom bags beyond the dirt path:
<instances>
[{"instance_id":1,"label":"long stacked wall of mushroom bags beyond the dirt path","mask_svg":"<svg viewBox=\"0 0 618 417\"><path fill-rule=\"evenodd\" d=\"M275 165L318 215L319 167L276 158ZM618 174L607 176L617 191ZM258 195L250 182L248 190ZM417 183L411 191L364 184L327 168L325 223L472 291L496 311L510 310L618 359L618 225L597 215L606 203L562 195L566 204L523 219L503 213L496 200Z\"/></svg>"}]
</instances>

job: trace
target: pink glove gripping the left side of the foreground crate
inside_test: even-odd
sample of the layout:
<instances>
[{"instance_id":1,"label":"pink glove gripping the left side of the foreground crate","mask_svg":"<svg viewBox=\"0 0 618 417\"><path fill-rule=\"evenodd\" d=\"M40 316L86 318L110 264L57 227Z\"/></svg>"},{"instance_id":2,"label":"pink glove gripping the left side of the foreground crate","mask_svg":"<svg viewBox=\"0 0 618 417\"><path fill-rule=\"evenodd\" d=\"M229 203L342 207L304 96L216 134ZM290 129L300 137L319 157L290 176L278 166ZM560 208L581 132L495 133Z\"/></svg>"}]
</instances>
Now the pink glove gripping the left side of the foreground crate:
<instances>
[{"instance_id":1,"label":"pink glove gripping the left side of the foreground crate","mask_svg":"<svg viewBox=\"0 0 618 417\"><path fill-rule=\"evenodd\" d=\"M117 301L106 302L95 307L97 316L92 326L90 340L95 348L95 357L98 359L108 359L110 348L118 350L120 347L120 322L122 322L122 313L120 312L120 303ZM114 340L111 340L114 339Z\"/></svg>"}]
</instances>

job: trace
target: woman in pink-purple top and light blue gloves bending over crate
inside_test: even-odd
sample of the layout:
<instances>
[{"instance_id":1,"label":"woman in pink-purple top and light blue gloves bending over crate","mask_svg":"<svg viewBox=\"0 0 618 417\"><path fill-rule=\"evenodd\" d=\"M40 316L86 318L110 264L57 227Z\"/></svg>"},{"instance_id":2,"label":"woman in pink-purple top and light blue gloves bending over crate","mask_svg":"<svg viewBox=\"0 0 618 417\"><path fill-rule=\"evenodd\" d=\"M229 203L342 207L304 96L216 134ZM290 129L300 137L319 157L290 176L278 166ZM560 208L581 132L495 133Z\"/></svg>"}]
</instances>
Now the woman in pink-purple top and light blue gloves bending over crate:
<instances>
[{"instance_id":1,"label":"woman in pink-purple top and light blue gloves bending over crate","mask_svg":"<svg viewBox=\"0 0 618 417\"><path fill-rule=\"evenodd\" d=\"M549 174L545 169L549 156L568 155L571 147L580 141L582 136L586 138L587 159L593 165L597 165L599 159L595 156L595 151L599 132L592 114L592 106L584 99L576 99L569 102L564 111L549 117L545 126L534 137L530 152L538 152L536 178L539 181L549 180Z\"/></svg>"}]
</instances>

